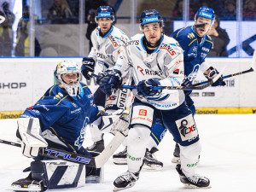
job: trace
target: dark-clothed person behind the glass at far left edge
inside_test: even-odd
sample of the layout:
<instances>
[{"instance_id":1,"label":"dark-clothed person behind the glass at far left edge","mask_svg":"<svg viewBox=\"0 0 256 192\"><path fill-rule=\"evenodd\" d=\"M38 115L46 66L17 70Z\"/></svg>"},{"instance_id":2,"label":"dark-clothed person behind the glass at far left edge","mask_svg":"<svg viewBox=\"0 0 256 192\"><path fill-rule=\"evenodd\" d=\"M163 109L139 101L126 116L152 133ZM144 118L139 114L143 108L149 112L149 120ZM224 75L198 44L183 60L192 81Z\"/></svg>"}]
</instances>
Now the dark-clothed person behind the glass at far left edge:
<instances>
[{"instance_id":1,"label":"dark-clothed person behind the glass at far left edge","mask_svg":"<svg viewBox=\"0 0 256 192\"><path fill-rule=\"evenodd\" d=\"M9 3L3 2L2 8L0 15L5 20L0 24L0 56L11 56L14 41L12 26L15 22L15 15L9 10Z\"/></svg>"}]
</instances>

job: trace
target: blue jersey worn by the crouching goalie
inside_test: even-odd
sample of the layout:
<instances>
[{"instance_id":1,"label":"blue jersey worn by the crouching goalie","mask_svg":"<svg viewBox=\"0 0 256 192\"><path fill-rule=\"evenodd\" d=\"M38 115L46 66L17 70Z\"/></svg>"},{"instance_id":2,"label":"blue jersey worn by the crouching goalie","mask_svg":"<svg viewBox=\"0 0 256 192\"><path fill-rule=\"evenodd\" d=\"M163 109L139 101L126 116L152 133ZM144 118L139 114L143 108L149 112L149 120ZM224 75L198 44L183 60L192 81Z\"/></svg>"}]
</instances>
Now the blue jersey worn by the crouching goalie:
<instances>
[{"instance_id":1,"label":"blue jersey worn by the crouching goalie","mask_svg":"<svg viewBox=\"0 0 256 192\"><path fill-rule=\"evenodd\" d=\"M38 118L44 138L77 151L84 142L86 125L100 117L90 89L82 83L79 89L79 95L72 97L55 84L20 118Z\"/></svg>"}]
</instances>

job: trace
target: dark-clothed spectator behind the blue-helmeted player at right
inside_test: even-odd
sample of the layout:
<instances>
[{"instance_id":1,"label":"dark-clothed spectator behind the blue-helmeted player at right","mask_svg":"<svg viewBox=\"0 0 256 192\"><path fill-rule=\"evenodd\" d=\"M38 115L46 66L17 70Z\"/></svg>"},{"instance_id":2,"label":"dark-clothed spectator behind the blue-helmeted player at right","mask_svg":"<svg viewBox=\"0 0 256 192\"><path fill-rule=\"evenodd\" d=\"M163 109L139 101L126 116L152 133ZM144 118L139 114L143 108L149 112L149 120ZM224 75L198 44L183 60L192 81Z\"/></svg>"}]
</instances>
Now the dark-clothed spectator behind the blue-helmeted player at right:
<instances>
[{"instance_id":1,"label":"dark-clothed spectator behind the blue-helmeted player at right","mask_svg":"<svg viewBox=\"0 0 256 192\"><path fill-rule=\"evenodd\" d=\"M217 15L208 35L212 38L212 49L208 56L228 56L227 45L230 43L230 38L228 33L219 27Z\"/></svg>"}]
</instances>

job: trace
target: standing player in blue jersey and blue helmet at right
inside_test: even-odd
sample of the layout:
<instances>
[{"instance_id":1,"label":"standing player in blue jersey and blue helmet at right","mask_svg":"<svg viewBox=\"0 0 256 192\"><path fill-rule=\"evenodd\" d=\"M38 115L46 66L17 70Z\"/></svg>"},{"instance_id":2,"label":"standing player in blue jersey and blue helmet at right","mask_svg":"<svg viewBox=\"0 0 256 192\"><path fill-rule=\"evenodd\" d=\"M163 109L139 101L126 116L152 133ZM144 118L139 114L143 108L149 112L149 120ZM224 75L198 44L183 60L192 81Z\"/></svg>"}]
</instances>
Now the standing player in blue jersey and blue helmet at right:
<instances>
[{"instance_id":1,"label":"standing player in blue jersey and blue helmet at right","mask_svg":"<svg viewBox=\"0 0 256 192\"><path fill-rule=\"evenodd\" d=\"M194 26L186 26L182 29L177 29L172 33L172 38L175 38L184 50L184 73L186 77L185 85L192 84L198 71L200 70L207 79L210 79L218 74L217 69L210 66L205 58L212 49L212 39L207 35L210 32L215 20L213 9L205 6L198 9L195 14ZM212 86L224 86L225 82L221 77ZM195 114L195 105L189 96L192 91L185 91L185 100L189 109ZM179 162L179 146L176 144L173 152L172 162Z\"/></svg>"}]
</instances>

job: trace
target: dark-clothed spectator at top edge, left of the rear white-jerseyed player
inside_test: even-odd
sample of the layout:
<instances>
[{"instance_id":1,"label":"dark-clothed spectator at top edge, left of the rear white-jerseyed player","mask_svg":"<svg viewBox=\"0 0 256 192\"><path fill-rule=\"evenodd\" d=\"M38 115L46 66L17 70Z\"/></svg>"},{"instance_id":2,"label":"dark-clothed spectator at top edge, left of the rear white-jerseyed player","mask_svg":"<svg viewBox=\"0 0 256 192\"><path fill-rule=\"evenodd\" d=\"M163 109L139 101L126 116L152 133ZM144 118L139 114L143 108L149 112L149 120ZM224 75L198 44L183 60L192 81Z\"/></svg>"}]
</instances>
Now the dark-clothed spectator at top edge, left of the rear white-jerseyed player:
<instances>
[{"instance_id":1,"label":"dark-clothed spectator at top edge, left of the rear white-jerseyed player","mask_svg":"<svg viewBox=\"0 0 256 192\"><path fill-rule=\"evenodd\" d=\"M73 13L68 7L66 0L54 0L52 7L49 9L48 19L52 24L66 24Z\"/></svg>"}]
</instances>

